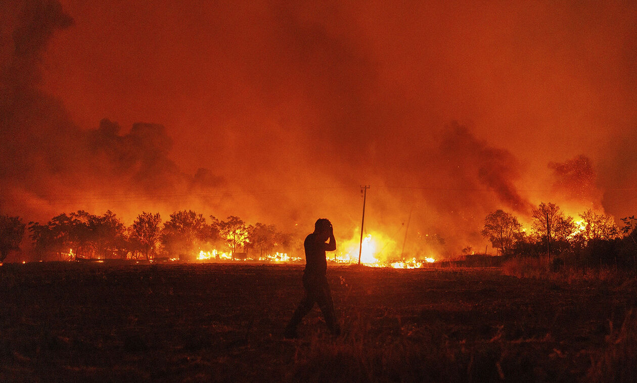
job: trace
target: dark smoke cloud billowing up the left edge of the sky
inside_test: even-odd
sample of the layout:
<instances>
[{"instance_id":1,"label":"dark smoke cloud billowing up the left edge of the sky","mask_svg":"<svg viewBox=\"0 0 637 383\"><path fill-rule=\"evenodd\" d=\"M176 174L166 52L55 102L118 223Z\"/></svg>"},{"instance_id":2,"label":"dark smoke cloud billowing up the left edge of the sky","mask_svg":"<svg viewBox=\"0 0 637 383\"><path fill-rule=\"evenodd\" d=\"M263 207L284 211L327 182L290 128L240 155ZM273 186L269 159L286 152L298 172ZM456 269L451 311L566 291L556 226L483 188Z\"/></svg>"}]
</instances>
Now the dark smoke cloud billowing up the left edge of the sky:
<instances>
[{"instance_id":1,"label":"dark smoke cloud billowing up the left edge of the sky","mask_svg":"<svg viewBox=\"0 0 637 383\"><path fill-rule=\"evenodd\" d=\"M94 130L71 122L59 101L39 89L39 66L55 31L73 19L57 1L14 2L13 45L4 46L0 104L0 207L29 219L66 209L113 209L137 201L155 209L183 205L184 195L214 190L222 179L206 169L185 174L168 157L162 125L135 123L130 132L102 120ZM162 204L148 205L153 195ZM125 214L135 214L125 208Z\"/></svg>"}]
</instances>

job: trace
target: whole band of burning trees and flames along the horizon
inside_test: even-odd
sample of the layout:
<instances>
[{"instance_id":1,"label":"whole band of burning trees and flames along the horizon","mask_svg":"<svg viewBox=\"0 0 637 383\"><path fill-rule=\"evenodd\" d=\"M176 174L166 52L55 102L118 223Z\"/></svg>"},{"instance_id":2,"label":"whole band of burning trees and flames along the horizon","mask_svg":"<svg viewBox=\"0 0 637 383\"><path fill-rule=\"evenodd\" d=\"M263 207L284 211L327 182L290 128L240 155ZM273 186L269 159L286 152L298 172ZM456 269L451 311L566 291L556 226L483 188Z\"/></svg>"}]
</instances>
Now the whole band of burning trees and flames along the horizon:
<instances>
[{"instance_id":1,"label":"whole band of burning trees and flames along the horizon","mask_svg":"<svg viewBox=\"0 0 637 383\"><path fill-rule=\"evenodd\" d=\"M635 265L634 216L622 219L624 226L619 228L612 217L592 209L579 214L577 220L552 203L541 203L531 213L527 231L513 214L492 212L484 219L482 235L501 256L548 256L556 265ZM1 222L3 261L9 251L17 249L27 225L18 217L2 216ZM303 263L306 234L280 232L275 225L264 223L250 225L237 216L210 216L206 221L203 214L191 210L173 212L163 223L159 213L142 212L130 226L111 211L99 216L76 211L59 214L46 224L31 222L28 232L33 243L30 258L38 261L264 263ZM349 240L341 239L343 235L339 234L337 231L337 251L327 253L330 263L422 268L441 260L431 250L405 253L404 243L400 249L395 238L380 231L371 230L362 240L360 233L352 233ZM463 254L477 255L470 247ZM458 255L454 259L459 258Z\"/></svg>"}]
</instances>

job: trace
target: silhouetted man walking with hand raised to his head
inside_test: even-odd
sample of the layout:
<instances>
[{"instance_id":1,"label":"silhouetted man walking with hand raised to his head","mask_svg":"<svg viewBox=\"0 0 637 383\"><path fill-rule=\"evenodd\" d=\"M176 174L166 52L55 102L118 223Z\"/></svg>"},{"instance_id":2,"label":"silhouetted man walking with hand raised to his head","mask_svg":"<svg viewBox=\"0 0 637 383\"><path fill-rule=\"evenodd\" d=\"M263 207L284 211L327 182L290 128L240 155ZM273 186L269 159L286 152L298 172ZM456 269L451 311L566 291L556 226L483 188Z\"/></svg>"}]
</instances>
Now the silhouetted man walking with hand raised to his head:
<instances>
[{"instance_id":1,"label":"silhouetted man walking with hand raised to his head","mask_svg":"<svg viewBox=\"0 0 637 383\"><path fill-rule=\"evenodd\" d=\"M329 243L326 241L329 239ZM328 219L320 218L314 224L314 232L305 238L305 271L303 272L303 287L305 296L299 307L292 315L290 323L285 328L286 338L296 338L296 327L303 317L310 312L314 303L318 303L327 327L334 335L340 335L341 328L334 315L334 302L332 293L327 284L326 251L336 250L336 239L332 224Z\"/></svg>"}]
</instances>

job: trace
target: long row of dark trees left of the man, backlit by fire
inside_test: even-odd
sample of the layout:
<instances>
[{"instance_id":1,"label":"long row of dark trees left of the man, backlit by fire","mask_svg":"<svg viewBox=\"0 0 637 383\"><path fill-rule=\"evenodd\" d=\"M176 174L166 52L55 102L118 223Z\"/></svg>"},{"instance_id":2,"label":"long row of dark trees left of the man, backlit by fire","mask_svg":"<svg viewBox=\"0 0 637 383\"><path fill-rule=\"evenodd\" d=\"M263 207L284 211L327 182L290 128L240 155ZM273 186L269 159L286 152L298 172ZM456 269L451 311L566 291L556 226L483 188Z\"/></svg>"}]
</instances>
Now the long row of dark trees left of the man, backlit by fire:
<instances>
[{"instance_id":1,"label":"long row of dark trees left of the man, backlit by fire","mask_svg":"<svg viewBox=\"0 0 637 383\"><path fill-rule=\"evenodd\" d=\"M94 258L194 258L198 249L222 248L234 255L255 251L259 258L283 252L292 236L275 225L247 225L243 219L218 219L192 210L176 211L163 222L160 214L141 212L126 226L115 213L103 215L86 211L62 213L45 224L22 222L19 217L0 214L0 262L17 250L25 232L33 242L39 260Z\"/></svg>"}]
</instances>

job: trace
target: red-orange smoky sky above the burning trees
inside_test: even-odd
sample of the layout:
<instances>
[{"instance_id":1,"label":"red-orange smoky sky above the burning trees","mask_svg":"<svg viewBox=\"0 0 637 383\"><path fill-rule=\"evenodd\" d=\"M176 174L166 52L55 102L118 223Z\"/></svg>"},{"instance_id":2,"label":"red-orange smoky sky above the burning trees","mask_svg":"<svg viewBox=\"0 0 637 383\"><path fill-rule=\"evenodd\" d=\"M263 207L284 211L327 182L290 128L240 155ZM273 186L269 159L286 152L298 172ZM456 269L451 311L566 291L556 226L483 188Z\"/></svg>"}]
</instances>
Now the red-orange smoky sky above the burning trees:
<instances>
[{"instance_id":1,"label":"red-orange smoky sky above the burning trees","mask_svg":"<svg viewBox=\"0 0 637 383\"><path fill-rule=\"evenodd\" d=\"M24 136L5 210L326 216L353 233L371 185L369 225L392 235L411 212L459 247L498 208L637 209L634 2L9 3L3 67L31 66L32 105L4 106ZM23 35L41 39L24 62ZM60 154L16 159L42 132Z\"/></svg>"}]
</instances>

